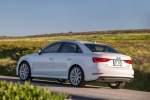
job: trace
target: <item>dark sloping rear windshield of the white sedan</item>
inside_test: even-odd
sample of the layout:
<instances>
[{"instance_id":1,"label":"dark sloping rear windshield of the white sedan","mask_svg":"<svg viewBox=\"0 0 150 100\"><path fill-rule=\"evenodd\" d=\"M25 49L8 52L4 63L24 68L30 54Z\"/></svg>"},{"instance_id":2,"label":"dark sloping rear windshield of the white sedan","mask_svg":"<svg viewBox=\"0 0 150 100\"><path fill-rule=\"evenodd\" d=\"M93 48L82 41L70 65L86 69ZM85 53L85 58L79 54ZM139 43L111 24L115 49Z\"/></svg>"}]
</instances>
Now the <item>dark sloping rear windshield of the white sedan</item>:
<instances>
[{"instance_id":1,"label":"dark sloping rear windshield of the white sedan","mask_svg":"<svg viewBox=\"0 0 150 100\"><path fill-rule=\"evenodd\" d=\"M108 45L102 45L102 44L84 44L87 46L92 52L111 52L111 53L119 53L114 48L108 46Z\"/></svg>"}]
</instances>

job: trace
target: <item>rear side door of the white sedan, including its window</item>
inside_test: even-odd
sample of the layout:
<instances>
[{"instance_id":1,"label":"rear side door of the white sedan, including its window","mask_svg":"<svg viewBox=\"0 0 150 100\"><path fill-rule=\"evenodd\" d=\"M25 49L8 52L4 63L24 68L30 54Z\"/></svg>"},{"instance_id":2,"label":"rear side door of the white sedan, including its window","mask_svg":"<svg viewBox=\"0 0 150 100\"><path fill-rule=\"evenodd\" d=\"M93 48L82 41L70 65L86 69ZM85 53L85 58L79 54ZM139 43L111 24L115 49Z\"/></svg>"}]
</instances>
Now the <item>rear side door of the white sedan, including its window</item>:
<instances>
[{"instance_id":1,"label":"rear side door of the white sedan, including its window","mask_svg":"<svg viewBox=\"0 0 150 100\"><path fill-rule=\"evenodd\" d=\"M61 51L55 55L53 76L67 76L68 69L73 64L77 53L77 45L66 42Z\"/></svg>"}]
</instances>

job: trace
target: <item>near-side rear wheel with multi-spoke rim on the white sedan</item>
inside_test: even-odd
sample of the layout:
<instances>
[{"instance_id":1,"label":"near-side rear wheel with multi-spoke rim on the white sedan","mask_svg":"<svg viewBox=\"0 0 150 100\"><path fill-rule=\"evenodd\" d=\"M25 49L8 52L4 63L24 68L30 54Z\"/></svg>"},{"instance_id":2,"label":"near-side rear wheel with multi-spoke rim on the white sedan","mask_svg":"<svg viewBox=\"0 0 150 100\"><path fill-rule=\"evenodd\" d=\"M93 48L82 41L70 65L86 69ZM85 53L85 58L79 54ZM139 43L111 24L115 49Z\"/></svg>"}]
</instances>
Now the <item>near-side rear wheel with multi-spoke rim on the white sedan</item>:
<instances>
[{"instance_id":1,"label":"near-side rear wheel with multi-spoke rim on the white sedan","mask_svg":"<svg viewBox=\"0 0 150 100\"><path fill-rule=\"evenodd\" d=\"M76 72L78 71L78 73L75 73L75 70ZM71 85L75 87L84 87L86 84L83 70L79 66L71 68L69 72L69 80Z\"/></svg>"}]
</instances>

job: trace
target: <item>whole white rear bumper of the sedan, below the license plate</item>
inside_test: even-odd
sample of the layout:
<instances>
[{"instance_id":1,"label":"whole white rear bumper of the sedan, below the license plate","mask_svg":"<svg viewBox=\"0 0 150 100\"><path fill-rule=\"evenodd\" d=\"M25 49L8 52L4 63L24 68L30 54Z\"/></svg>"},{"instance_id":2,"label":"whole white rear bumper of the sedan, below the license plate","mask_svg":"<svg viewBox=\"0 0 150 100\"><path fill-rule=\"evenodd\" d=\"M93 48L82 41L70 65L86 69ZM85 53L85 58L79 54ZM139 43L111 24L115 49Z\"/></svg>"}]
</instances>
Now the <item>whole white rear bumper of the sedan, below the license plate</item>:
<instances>
[{"instance_id":1,"label":"whole white rear bumper of the sedan, below the license plate","mask_svg":"<svg viewBox=\"0 0 150 100\"><path fill-rule=\"evenodd\" d=\"M98 80L103 82L128 82L133 80L133 78L133 69L127 68L101 67L101 69L86 69L85 73L85 81Z\"/></svg>"}]
</instances>

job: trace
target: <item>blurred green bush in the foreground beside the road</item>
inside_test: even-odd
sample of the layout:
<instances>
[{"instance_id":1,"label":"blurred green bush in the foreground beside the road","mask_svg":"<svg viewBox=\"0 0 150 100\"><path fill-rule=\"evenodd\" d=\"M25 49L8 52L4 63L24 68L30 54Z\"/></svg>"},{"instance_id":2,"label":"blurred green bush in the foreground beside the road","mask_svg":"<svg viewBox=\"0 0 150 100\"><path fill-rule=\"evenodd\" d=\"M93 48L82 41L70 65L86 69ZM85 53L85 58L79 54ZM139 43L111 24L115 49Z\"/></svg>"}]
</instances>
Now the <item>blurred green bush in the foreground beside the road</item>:
<instances>
[{"instance_id":1,"label":"blurred green bush in the foreground beside the road","mask_svg":"<svg viewBox=\"0 0 150 100\"><path fill-rule=\"evenodd\" d=\"M64 100L66 94L51 93L48 88L25 84L0 82L0 100Z\"/></svg>"}]
</instances>

